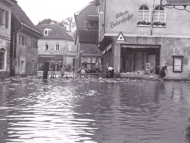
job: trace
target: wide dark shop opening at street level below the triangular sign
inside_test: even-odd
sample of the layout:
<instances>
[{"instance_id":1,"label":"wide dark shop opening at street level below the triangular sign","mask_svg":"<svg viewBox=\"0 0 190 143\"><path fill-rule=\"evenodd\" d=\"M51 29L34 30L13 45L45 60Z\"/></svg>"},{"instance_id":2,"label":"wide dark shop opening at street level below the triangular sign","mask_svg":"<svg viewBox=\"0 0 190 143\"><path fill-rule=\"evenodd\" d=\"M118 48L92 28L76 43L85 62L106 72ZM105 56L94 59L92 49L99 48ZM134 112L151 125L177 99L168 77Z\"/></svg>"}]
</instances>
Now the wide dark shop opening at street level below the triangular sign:
<instances>
[{"instance_id":1,"label":"wide dark shop opening at street level below the triangular sign","mask_svg":"<svg viewBox=\"0 0 190 143\"><path fill-rule=\"evenodd\" d=\"M121 47L121 72L159 74L160 47Z\"/></svg>"}]
</instances>

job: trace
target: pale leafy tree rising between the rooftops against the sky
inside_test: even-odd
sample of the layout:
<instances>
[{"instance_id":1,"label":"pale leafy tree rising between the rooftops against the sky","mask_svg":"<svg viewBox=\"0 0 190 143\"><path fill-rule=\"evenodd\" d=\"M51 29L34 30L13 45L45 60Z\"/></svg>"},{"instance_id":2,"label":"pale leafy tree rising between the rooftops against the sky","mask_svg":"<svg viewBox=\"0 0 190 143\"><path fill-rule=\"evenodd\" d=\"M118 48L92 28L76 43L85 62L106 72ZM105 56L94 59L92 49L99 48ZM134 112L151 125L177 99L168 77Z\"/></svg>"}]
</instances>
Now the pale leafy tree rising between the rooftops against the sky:
<instances>
[{"instance_id":1,"label":"pale leafy tree rising between the rooftops against the sky","mask_svg":"<svg viewBox=\"0 0 190 143\"><path fill-rule=\"evenodd\" d=\"M71 31L76 26L76 23L73 21L73 17L68 17L67 19L59 22L59 25L64 27L65 29L69 27L69 31Z\"/></svg>"}]
</instances>

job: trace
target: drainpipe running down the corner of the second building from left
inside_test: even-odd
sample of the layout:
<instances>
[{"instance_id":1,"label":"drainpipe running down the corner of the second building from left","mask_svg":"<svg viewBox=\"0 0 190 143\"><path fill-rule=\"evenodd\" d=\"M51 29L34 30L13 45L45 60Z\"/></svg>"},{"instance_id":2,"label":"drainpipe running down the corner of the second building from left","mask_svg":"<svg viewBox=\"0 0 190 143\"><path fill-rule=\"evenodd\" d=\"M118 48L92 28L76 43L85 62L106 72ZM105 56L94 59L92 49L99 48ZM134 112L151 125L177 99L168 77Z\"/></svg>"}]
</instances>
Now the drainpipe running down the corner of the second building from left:
<instances>
[{"instance_id":1,"label":"drainpipe running down the corner of the second building from left","mask_svg":"<svg viewBox=\"0 0 190 143\"><path fill-rule=\"evenodd\" d=\"M15 59L16 59L16 45L17 45L17 33L19 31L23 30L23 24L21 23L21 28L17 29L16 31L13 32L13 57L12 57L12 70L14 69L14 73L13 75L15 75L15 64L13 64L13 62L15 63ZM13 61L14 60L14 61ZM18 63L17 63L18 66Z\"/></svg>"}]
</instances>

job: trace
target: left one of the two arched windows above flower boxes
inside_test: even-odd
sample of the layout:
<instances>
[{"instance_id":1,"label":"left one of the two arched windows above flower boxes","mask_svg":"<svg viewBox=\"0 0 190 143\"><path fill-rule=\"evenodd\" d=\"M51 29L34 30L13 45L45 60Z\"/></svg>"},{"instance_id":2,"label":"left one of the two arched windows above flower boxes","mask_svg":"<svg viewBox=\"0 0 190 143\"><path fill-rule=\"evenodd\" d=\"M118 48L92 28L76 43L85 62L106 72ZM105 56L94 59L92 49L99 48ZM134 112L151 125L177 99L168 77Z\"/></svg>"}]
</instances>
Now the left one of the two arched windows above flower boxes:
<instances>
[{"instance_id":1,"label":"left one of the two arched windows above flower boxes","mask_svg":"<svg viewBox=\"0 0 190 143\"><path fill-rule=\"evenodd\" d=\"M138 21L150 22L150 11L147 6L143 5L139 8Z\"/></svg>"}]
</instances>

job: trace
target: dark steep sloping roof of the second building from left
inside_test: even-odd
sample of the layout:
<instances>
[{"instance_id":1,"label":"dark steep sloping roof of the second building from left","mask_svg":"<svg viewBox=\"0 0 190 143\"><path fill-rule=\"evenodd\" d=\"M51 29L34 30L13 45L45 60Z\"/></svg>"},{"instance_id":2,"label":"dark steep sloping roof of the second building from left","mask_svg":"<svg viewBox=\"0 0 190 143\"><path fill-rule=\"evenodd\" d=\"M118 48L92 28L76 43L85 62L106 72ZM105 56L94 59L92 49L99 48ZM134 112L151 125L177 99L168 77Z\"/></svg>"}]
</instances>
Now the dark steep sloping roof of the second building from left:
<instances>
[{"instance_id":1,"label":"dark steep sloping roof of the second building from left","mask_svg":"<svg viewBox=\"0 0 190 143\"><path fill-rule=\"evenodd\" d=\"M32 21L28 18L26 13L22 10L22 8L18 4L12 7L12 13L22 25L28 27L29 29L37 33L40 33L37 27L32 23Z\"/></svg>"}]
</instances>

